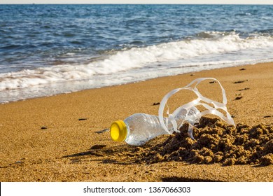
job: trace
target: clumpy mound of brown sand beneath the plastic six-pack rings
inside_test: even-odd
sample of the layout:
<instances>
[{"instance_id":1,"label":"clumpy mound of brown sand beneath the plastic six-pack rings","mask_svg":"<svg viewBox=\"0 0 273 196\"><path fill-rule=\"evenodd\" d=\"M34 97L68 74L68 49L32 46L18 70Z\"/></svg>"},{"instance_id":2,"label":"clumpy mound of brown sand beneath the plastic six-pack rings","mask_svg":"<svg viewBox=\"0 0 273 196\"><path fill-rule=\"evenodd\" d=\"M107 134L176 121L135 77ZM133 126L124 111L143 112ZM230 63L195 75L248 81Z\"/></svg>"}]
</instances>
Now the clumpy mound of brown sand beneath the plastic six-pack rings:
<instances>
[{"instance_id":1,"label":"clumpy mound of brown sand beneath the plastic six-pack rings","mask_svg":"<svg viewBox=\"0 0 273 196\"><path fill-rule=\"evenodd\" d=\"M141 161L273 165L273 124L233 127L217 118L203 117L193 133L195 141L188 137L188 125L184 125L179 133L143 153Z\"/></svg>"}]
</instances>

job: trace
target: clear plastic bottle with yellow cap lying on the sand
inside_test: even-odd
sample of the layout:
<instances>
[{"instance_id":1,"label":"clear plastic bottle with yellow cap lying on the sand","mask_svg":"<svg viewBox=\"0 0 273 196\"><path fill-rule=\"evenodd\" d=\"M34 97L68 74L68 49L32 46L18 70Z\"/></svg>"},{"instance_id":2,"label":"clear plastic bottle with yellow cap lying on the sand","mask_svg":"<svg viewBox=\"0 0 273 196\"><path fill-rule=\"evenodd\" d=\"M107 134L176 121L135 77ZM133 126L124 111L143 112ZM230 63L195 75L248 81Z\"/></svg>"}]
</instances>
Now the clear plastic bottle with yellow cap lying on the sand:
<instances>
[{"instance_id":1,"label":"clear plastic bottle with yellow cap lying on the sand","mask_svg":"<svg viewBox=\"0 0 273 196\"><path fill-rule=\"evenodd\" d=\"M195 107L191 108L188 116L193 116L199 113ZM186 110L181 110L174 116L177 125L182 125L184 118L186 118ZM165 118L166 123L167 118ZM171 122L168 122L168 130L166 132L160 125L158 116L148 115L146 113L135 113L129 116L124 121L118 120L112 123L110 127L110 134L113 141L125 141L127 144L140 146L147 141L158 137L162 134L169 134L174 132Z\"/></svg>"}]
</instances>

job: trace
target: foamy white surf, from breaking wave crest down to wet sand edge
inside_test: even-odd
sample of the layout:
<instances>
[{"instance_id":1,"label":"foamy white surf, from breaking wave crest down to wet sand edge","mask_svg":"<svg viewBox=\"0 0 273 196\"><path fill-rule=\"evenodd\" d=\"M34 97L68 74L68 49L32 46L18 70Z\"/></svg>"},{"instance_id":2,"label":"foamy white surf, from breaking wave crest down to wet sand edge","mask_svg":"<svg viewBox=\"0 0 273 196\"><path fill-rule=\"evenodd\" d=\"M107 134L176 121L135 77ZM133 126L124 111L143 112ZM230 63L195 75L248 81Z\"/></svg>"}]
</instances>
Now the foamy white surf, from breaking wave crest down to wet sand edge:
<instances>
[{"instance_id":1,"label":"foamy white surf, from breaking wave crest down to wet sand edge","mask_svg":"<svg viewBox=\"0 0 273 196\"><path fill-rule=\"evenodd\" d=\"M0 73L0 91L41 88L59 83L85 83L81 87L59 89L50 94L85 88L118 85L158 76L171 76L190 71L216 69L224 66L272 61L272 36L240 37L232 32L207 31L195 38L172 41L143 48L119 50L89 64L59 64ZM61 86L62 86L61 85ZM84 86L84 87L83 87ZM47 92L38 90L37 96ZM22 93L24 94L24 93ZM18 97L22 99L26 97ZM9 100L10 101L10 100ZM3 99L1 99L3 102Z\"/></svg>"}]
</instances>

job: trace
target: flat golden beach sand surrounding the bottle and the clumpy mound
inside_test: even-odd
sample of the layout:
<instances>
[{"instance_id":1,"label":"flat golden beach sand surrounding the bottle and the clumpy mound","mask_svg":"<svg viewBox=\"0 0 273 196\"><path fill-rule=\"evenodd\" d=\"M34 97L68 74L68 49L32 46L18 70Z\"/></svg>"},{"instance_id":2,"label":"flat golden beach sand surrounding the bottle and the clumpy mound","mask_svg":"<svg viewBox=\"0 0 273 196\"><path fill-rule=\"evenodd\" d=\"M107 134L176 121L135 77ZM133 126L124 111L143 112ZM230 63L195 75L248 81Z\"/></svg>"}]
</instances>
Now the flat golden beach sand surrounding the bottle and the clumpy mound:
<instances>
[{"instance_id":1,"label":"flat golden beach sand surrounding the bottle and the clumpy mound","mask_svg":"<svg viewBox=\"0 0 273 196\"><path fill-rule=\"evenodd\" d=\"M157 157L153 157L155 149L162 153L157 146L176 136L158 137L145 146L135 147L111 141L109 132L97 133L114 120L123 120L133 113L157 115L159 105L154 103L170 90L201 77L221 81L235 123L273 123L273 63L186 73L2 104L0 181L273 181L270 162L267 166L255 161L224 166L223 162L181 161L177 155L172 159L171 154L151 161ZM221 101L217 83L204 81L199 89ZM183 91L169 100L169 107L176 109L193 98L191 92ZM272 151L269 144L266 148ZM150 162L144 161L145 155L150 156Z\"/></svg>"}]
</instances>

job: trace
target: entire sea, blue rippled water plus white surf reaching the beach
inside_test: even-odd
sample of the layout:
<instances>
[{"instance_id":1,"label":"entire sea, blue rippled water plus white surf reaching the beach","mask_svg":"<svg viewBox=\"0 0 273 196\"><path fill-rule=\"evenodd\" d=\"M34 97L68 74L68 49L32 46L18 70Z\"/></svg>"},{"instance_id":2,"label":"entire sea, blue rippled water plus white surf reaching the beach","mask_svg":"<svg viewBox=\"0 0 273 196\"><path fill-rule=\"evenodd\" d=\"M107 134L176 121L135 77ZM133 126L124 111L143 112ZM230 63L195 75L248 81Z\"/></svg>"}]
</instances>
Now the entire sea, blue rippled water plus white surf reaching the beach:
<instances>
[{"instance_id":1,"label":"entire sea, blue rippled water plus white surf reaching the beach","mask_svg":"<svg viewBox=\"0 0 273 196\"><path fill-rule=\"evenodd\" d=\"M273 6L0 5L0 103L272 62L272 51Z\"/></svg>"}]
</instances>

